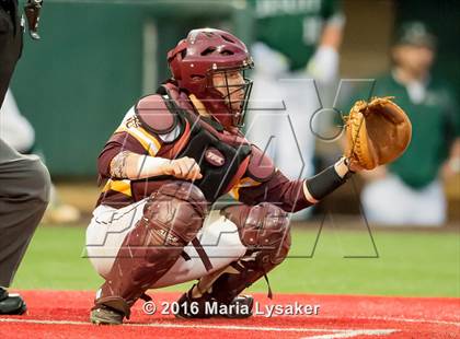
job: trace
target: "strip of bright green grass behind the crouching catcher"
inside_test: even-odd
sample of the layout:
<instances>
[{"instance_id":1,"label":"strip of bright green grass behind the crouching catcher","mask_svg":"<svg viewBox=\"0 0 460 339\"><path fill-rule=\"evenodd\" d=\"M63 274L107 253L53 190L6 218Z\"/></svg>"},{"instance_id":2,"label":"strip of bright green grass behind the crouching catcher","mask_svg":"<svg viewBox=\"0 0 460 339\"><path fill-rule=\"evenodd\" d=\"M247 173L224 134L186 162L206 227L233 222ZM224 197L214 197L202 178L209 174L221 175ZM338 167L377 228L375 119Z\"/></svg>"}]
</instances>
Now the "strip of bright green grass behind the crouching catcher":
<instances>
[{"instance_id":1,"label":"strip of bright green grass behind the crouching catcher","mask_svg":"<svg viewBox=\"0 0 460 339\"><path fill-rule=\"evenodd\" d=\"M269 274L273 290L291 293L460 296L460 238L453 232L367 232L325 226L294 230L291 256ZM13 288L95 290L101 278L82 258L84 227L41 226ZM367 256L368 258L344 258ZM189 284L186 284L189 285ZM168 290L184 290L176 285ZM266 291L258 281L253 291Z\"/></svg>"}]
</instances>

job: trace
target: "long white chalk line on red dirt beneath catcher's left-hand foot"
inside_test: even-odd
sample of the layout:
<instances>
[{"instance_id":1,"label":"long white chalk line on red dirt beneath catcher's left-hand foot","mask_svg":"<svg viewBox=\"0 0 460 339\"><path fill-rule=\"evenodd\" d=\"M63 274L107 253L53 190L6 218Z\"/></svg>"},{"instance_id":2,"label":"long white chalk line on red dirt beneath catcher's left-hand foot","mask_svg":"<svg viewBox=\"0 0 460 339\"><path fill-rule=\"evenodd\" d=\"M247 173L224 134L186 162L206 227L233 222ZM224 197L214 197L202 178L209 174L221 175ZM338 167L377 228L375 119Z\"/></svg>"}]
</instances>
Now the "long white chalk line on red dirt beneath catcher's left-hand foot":
<instances>
[{"instance_id":1,"label":"long white chalk line on red dirt beneath catcher's left-hand foot","mask_svg":"<svg viewBox=\"0 0 460 339\"><path fill-rule=\"evenodd\" d=\"M18 318L0 318L0 323L23 323L23 324L38 324L38 325L91 325L89 322L72 322L72 320L38 320L38 319L18 319ZM186 324L171 324L171 323L152 323L152 324L124 324L124 327L156 327L156 328L195 328L195 329L222 329L222 330L249 330L249 331L276 331L276 332L333 332L336 335L349 335L352 332L363 332L369 335L386 335L392 334L395 329L369 329L369 330L350 330L350 329L327 329L327 328L303 328L303 327L262 327L262 326L238 326L238 325L186 325ZM331 336L331 335L327 335ZM330 337L313 337L313 338L330 338ZM334 337L334 338L349 338Z\"/></svg>"}]
</instances>

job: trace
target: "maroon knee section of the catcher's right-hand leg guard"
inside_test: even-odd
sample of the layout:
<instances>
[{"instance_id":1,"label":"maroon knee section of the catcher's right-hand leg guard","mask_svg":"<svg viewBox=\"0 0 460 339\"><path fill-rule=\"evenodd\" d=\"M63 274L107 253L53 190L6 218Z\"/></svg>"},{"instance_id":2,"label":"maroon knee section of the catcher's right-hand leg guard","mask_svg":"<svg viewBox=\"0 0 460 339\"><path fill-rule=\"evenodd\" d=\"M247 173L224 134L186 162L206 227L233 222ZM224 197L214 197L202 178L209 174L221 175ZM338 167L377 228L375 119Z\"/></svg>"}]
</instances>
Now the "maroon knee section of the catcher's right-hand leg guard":
<instances>
[{"instance_id":1,"label":"maroon knee section of the catcher's right-hand leg guard","mask_svg":"<svg viewBox=\"0 0 460 339\"><path fill-rule=\"evenodd\" d=\"M260 252L256 258L264 266L278 265L290 248L288 214L277 206L262 202L256 206L231 206L221 214L238 226L241 243L250 252Z\"/></svg>"}]
</instances>

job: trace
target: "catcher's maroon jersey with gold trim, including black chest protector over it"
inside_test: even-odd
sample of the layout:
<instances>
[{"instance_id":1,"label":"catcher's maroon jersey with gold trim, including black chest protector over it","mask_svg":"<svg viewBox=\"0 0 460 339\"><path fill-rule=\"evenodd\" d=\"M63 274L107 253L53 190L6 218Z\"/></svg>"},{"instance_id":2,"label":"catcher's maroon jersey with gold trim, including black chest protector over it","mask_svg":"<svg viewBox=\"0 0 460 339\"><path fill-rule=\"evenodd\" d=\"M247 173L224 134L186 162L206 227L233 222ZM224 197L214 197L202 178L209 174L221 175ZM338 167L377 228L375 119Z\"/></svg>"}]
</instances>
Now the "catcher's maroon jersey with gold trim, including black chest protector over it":
<instances>
[{"instance_id":1,"label":"catcher's maroon jersey with gold trim, including black chest protector over it","mask_svg":"<svg viewBox=\"0 0 460 339\"><path fill-rule=\"evenodd\" d=\"M210 203L230 194L246 204L267 201L289 212L311 204L303 195L303 180L289 180L239 130L225 130L211 116L198 114L199 102L193 97L193 105L191 97L166 83L126 114L99 156L104 188L97 204L125 207L149 197L165 183L177 180L173 176L139 180L111 177L111 161L122 151L195 159L203 178L194 184Z\"/></svg>"}]
</instances>

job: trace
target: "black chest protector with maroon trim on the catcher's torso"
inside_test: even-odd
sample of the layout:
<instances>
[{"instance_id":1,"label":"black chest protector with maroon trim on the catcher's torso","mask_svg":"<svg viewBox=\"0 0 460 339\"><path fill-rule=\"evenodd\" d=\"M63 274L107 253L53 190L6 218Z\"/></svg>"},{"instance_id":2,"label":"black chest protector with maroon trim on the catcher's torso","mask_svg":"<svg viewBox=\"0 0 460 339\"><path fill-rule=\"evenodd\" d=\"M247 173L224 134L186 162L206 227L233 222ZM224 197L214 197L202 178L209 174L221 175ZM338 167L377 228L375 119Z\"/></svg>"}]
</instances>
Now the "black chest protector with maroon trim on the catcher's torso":
<instances>
[{"instance_id":1,"label":"black chest protector with maroon trim on the catcher's torso","mask_svg":"<svg viewBox=\"0 0 460 339\"><path fill-rule=\"evenodd\" d=\"M251 144L241 136L223 131L223 128L210 118L198 117L191 112L193 107L180 106L179 94L165 86L159 89L163 105L171 117L162 117L161 122L156 121L156 113L136 109L137 117L142 127L151 132L160 133L164 144L158 156L180 159L188 156L198 163L203 178L195 180L208 202L215 202L220 196L230 190L231 186L246 172ZM160 95L154 95L157 101ZM164 107L164 106L163 106ZM165 109L164 109L165 110ZM163 110L163 115L164 115ZM157 116L159 116L157 114ZM165 124L164 121L171 121ZM166 126L168 125L168 126ZM161 126L159 130L158 126ZM171 176L149 178L149 182L173 179Z\"/></svg>"}]
</instances>

